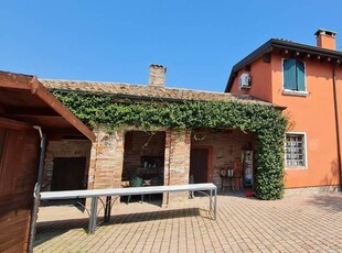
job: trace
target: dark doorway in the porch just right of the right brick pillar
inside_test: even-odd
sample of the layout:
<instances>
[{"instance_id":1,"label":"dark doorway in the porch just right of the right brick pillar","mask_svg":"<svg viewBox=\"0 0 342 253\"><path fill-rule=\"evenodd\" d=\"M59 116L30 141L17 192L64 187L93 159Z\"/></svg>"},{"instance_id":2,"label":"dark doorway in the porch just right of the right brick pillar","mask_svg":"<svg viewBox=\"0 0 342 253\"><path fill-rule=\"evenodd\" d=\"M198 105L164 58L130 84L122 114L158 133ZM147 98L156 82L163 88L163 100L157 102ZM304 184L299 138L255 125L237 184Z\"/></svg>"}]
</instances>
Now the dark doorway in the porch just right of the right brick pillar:
<instances>
[{"instance_id":1,"label":"dark doorway in the porch just right of the right brick pillar","mask_svg":"<svg viewBox=\"0 0 342 253\"><path fill-rule=\"evenodd\" d=\"M190 153L190 176L193 176L193 182L207 183L207 158L209 150L191 148Z\"/></svg>"}]
</instances>

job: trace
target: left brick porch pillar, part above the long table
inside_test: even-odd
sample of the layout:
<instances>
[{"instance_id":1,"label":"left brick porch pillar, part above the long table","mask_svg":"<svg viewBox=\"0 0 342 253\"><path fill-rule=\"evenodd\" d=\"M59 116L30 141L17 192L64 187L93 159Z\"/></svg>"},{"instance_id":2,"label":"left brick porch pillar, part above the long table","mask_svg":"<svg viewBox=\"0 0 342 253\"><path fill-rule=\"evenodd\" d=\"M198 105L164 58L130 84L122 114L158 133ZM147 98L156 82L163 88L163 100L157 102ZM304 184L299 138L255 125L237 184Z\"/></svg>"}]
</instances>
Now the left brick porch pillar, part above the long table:
<instances>
[{"instance_id":1,"label":"left brick porch pillar, part above the long table","mask_svg":"<svg viewBox=\"0 0 342 253\"><path fill-rule=\"evenodd\" d=\"M124 165L124 132L107 133L105 128L94 130L88 189L120 187Z\"/></svg>"}]
</instances>

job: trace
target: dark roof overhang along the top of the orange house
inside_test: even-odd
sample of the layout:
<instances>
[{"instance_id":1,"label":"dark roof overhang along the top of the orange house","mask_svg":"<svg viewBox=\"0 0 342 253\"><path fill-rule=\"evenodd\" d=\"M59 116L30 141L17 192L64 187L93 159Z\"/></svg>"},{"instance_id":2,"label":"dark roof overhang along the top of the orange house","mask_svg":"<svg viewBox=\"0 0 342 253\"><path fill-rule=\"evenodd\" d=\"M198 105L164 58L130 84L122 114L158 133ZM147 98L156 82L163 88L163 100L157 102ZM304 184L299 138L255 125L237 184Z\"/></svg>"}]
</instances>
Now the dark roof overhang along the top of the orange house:
<instances>
[{"instance_id":1,"label":"dark roof overhang along the top of the orange house","mask_svg":"<svg viewBox=\"0 0 342 253\"><path fill-rule=\"evenodd\" d=\"M233 66L225 92L231 91L234 78L237 76L237 72L239 69L245 68L256 59L275 51L277 51L280 55L323 61L331 63L334 66L341 65L342 63L342 52L303 45L286 40L271 38Z\"/></svg>"}]
</instances>

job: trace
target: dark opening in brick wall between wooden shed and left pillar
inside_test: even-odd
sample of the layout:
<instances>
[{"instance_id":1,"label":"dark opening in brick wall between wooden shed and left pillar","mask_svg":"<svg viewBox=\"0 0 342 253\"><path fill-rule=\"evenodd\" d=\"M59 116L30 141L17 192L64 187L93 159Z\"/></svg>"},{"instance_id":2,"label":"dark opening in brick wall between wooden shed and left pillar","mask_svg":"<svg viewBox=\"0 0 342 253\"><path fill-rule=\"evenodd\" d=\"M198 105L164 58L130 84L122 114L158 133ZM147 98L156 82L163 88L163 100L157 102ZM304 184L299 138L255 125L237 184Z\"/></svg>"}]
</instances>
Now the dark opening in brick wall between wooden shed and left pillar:
<instances>
[{"instance_id":1,"label":"dark opening in brick wall between wooden shed and left pillar","mask_svg":"<svg viewBox=\"0 0 342 253\"><path fill-rule=\"evenodd\" d=\"M57 157L53 160L51 190L85 189L86 157Z\"/></svg>"}]
</instances>

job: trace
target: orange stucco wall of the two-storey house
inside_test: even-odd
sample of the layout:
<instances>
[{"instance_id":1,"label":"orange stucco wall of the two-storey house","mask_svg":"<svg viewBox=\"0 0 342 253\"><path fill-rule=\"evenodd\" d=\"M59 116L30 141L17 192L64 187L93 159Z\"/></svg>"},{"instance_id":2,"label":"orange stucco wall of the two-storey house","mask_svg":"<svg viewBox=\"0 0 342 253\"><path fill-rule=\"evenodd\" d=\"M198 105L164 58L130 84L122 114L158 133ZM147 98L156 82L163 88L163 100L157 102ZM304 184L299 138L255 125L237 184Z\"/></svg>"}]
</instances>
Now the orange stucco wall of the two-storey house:
<instances>
[{"instance_id":1,"label":"orange stucco wall of the two-storey house","mask_svg":"<svg viewBox=\"0 0 342 253\"><path fill-rule=\"evenodd\" d=\"M275 105L287 107L284 113L290 122L289 132L306 133L307 166L302 168L285 168L286 188L339 185L333 67L328 62L311 59L304 61L304 64L308 91L306 97L282 94L282 57L279 54L272 54L270 64L257 61L252 65L250 73L257 69L256 75L261 77L252 74L253 85L250 90L239 90L237 77L232 92L249 94ZM268 77L268 74L269 78L265 78ZM267 84L265 85L265 82ZM342 128L341 86L342 68L338 67L336 87L338 100L340 101L340 129ZM260 92L263 94L260 95Z\"/></svg>"}]
</instances>

